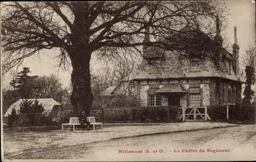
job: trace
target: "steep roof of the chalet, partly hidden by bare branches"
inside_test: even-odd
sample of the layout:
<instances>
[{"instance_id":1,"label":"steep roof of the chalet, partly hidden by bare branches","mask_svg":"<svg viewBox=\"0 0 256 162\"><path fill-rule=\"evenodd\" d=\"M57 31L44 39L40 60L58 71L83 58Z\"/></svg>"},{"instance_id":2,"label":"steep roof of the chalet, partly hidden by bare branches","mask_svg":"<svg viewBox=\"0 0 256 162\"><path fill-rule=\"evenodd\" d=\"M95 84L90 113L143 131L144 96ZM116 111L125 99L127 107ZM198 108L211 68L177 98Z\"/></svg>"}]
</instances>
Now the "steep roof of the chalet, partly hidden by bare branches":
<instances>
[{"instance_id":1,"label":"steep roof of the chalet, partly hidden by bare branches","mask_svg":"<svg viewBox=\"0 0 256 162\"><path fill-rule=\"evenodd\" d=\"M170 43L175 42L175 41L181 41L184 42L184 44L189 40L189 42L195 42L194 45L200 49L207 49L208 46L215 46L215 41L212 40L209 36L204 34L202 31L199 31L197 29L189 29L188 27L185 27L182 29L183 31L180 35L170 37L167 41ZM195 47L194 47L195 48ZM212 48L212 47L211 47ZM154 49L154 50L152 50ZM157 50L158 49L158 50ZM159 53L162 54L162 49L158 47L154 48L148 48L145 50L145 52L149 52L150 56L154 55L152 53L157 52L158 55ZM168 51L165 50L166 52L173 52L173 51ZM177 73L177 68L175 68L176 63L175 60L173 61L168 61L166 60L158 63L157 65L163 66L163 68L160 68L159 70L148 70L149 65L148 63L143 64L144 68L138 69L136 72L131 73L129 76L124 78L122 81L127 81L127 80L145 80L145 79L185 79L185 78L199 78L199 77L218 77L218 78L224 78L228 80L233 80L233 81L239 81L242 82L241 76L238 74L234 73L233 70L233 64L232 64L232 54L229 53L226 49L222 48L220 50L224 56L224 61L220 63L220 66L223 68L226 68L228 71L228 65L226 64L227 60L231 62L231 72L226 73L226 72L221 72L216 70L215 68L200 68L198 71L193 71L184 69L183 67L181 70L178 70L179 72ZM149 54L145 54L146 56ZM172 55L172 53L170 53ZM164 65L165 64L165 65Z\"/></svg>"}]
</instances>

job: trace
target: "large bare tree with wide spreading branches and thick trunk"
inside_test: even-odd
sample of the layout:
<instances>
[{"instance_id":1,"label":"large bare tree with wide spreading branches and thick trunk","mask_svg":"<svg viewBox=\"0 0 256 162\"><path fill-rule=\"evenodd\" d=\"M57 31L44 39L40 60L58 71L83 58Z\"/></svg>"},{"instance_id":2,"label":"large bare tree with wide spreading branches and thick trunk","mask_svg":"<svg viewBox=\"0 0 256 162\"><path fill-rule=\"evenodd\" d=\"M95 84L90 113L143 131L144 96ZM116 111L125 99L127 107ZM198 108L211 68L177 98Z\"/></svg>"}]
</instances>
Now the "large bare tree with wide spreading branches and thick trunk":
<instances>
[{"instance_id":1,"label":"large bare tree with wide spreading branches and thick trunk","mask_svg":"<svg viewBox=\"0 0 256 162\"><path fill-rule=\"evenodd\" d=\"M142 55L141 45L169 50L198 51L194 42L166 43L184 32L184 26L215 33L212 23L224 13L215 1L122 1L122 2L7 2L2 5L3 71L19 65L43 49L60 49L60 64L70 59L73 71L71 102L79 115L90 114L90 60L94 52L107 55L116 49ZM209 22L209 23L207 23ZM147 29L147 30L146 30ZM144 34L152 41L143 41ZM161 39L160 39L161 38ZM192 53L191 53L192 54ZM203 54L203 53L202 53ZM196 56L199 57L199 56Z\"/></svg>"}]
</instances>

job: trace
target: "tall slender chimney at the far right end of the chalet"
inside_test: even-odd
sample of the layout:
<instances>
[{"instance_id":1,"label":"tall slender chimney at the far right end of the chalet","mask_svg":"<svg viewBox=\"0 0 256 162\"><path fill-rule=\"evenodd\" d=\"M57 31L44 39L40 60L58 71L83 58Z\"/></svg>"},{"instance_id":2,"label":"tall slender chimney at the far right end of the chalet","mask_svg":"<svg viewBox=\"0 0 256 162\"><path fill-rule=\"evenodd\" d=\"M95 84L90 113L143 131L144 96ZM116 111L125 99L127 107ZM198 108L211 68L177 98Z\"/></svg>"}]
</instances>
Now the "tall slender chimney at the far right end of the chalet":
<instances>
[{"instance_id":1,"label":"tall slender chimney at the far right end of the chalet","mask_svg":"<svg viewBox=\"0 0 256 162\"><path fill-rule=\"evenodd\" d=\"M239 45L237 38L237 27L234 26L234 44L233 44L233 67L236 75L239 74Z\"/></svg>"}]
</instances>

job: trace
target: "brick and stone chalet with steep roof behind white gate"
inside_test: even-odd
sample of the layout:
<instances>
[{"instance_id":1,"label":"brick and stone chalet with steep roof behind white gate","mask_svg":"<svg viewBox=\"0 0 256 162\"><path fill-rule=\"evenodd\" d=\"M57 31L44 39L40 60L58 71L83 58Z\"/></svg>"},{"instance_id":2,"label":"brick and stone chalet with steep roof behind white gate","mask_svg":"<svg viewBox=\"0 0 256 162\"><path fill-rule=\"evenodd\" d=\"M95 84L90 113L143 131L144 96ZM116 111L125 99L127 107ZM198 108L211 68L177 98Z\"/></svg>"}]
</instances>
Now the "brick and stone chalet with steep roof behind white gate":
<instances>
[{"instance_id":1,"label":"brick and stone chalet with steep roof behind white gate","mask_svg":"<svg viewBox=\"0 0 256 162\"><path fill-rule=\"evenodd\" d=\"M191 30L191 32L201 33ZM202 34L202 33L201 33ZM187 35L181 37L187 39ZM179 38L179 36L178 36ZM218 67L212 59L179 58L179 51L157 47L143 47L144 59L140 68L111 88L111 94L130 89L137 96L138 106L196 107L239 104L242 80L239 75L239 45L234 27L232 53L222 47L222 37L217 28L215 39L199 35L196 41L206 45L220 45L216 55ZM150 41L145 35L144 41ZM199 47L202 45L199 44Z\"/></svg>"}]
</instances>

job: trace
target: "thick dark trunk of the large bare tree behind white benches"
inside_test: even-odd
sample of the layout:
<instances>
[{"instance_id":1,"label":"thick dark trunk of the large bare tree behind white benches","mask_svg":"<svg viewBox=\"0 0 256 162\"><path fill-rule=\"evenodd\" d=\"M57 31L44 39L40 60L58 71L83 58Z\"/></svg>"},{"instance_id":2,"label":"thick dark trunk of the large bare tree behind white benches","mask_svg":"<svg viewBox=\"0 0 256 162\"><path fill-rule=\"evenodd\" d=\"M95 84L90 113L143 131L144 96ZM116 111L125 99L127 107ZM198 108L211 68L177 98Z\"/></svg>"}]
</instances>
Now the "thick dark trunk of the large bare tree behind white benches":
<instances>
[{"instance_id":1,"label":"thick dark trunk of the large bare tree behind white benches","mask_svg":"<svg viewBox=\"0 0 256 162\"><path fill-rule=\"evenodd\" d=\"M71 57L73 71L71 83L73 91L71 104L73 106L74 117L80 117L82 111L89 117L93 94L91 90L90 60L92 52L87 49L76 49Z\"/></svg>"}]
</instances>

